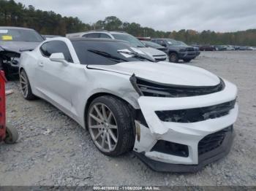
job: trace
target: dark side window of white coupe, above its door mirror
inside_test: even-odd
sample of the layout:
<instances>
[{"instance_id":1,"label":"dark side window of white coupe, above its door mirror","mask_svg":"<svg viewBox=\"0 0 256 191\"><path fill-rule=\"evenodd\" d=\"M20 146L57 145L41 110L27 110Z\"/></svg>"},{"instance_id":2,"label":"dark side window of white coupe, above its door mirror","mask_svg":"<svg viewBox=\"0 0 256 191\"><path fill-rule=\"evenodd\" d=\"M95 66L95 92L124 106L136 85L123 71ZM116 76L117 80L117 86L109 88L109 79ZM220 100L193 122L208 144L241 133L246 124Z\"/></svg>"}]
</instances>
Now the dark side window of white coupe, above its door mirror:
<instances>
[{"instance_id":1,"label":"dark side window of white coupe, above its door mirror","mask_svg":"<svg viewBox=\"0 0 256 191\"><path fill-rule=\"evenodd\" d=\"M48 58L53 53L63 53L66 61L68 61L69 63L73 62L69 49L65 42L62 42L62 41L45 42L40 47L40 50L42 55Z\"/></svg>"}]
</instances>

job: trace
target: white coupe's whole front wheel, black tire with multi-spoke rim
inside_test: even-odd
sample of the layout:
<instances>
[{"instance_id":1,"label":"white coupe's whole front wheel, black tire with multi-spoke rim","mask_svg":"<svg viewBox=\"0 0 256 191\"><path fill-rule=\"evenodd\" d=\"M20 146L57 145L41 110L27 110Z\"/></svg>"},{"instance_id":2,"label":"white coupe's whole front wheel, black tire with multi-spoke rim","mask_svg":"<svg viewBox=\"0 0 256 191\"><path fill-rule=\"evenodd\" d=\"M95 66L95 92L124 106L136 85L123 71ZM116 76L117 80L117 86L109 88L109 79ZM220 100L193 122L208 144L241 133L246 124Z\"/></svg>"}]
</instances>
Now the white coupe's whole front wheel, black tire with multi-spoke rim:
<instances>
[{"instance_id":1,"label":"white coupe's whole front wheel, black tire with multi-spoke rim","mask_svg":"<svg viewBox=\"0 0 256 191\"><path fill-rule=\"evenodd\" d=\"M132 112L124 101L111 95L94 99L86 114L86 121L91 139L103 154L115 157L133 148L135 124Z\"/></svg>"}]
</instances>

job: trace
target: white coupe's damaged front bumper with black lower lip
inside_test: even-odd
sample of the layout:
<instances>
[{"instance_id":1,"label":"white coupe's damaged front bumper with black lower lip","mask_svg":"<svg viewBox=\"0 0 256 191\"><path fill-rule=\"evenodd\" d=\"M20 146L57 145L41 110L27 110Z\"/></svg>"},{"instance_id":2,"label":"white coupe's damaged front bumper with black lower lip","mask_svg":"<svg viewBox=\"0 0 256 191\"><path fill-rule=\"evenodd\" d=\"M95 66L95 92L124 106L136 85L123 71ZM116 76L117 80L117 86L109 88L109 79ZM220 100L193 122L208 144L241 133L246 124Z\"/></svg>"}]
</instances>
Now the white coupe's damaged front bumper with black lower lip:
<instances>
[{"instance_id":1,"label":"white coupe's damaged front bumper with black lower lip","mask_svg":"<svg viewBox=\"0 0 256 191\"><path fill-rule=\"evenodd\" d=\"M156 171L173 172L195 172L227 155L233 141L233 123L238 116L236 95L236 86L225 81L224 90L208 95L183 98L141 96L138 103L146 124L135 121L135 154ZM233 107L227 105L227 111L223 103L233 103ZM219 113L202 110L207 107L219 109ZM207 111L203 116L208 118L196 122L195 119L192 122L169 122L160 120L157 115L157 111L186 109Z\"/></svg>"}]
</instances>

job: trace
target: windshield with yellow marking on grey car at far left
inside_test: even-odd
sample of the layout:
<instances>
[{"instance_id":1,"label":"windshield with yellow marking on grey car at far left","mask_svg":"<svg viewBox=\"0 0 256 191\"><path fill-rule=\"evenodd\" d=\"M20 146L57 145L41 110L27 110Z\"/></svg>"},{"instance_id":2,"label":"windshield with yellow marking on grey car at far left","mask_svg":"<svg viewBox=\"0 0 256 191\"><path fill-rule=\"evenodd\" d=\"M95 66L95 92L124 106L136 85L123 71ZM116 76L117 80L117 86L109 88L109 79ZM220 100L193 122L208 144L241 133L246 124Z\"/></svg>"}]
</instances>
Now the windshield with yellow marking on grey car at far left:
<instances>
[{"instance_id":1,"label":"windshield with yellow marking on grey car at far left","mask_svg":"<svg viewBox=\"0 0 256 191\"><path fill-rule=\"evenodd\" d=\"M36 31L26 29L0 29L0 41L8 42L42 42L42 36Z\"/></svg>"}]
</instances>

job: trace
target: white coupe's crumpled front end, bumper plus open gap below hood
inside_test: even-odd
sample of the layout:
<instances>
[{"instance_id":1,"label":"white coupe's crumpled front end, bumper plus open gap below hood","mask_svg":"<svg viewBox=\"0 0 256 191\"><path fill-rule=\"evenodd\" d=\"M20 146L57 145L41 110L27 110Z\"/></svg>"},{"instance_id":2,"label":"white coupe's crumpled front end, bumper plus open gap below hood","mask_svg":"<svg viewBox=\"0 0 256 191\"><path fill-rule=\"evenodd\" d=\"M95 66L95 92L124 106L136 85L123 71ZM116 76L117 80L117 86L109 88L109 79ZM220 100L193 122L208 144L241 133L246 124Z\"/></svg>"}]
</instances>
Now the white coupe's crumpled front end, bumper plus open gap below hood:
<instances>
[{"instance_id":1,"label":"white coupe's crumpled front end, bumper plus open gap below hood","mask_svg":"<svg viewBox=\"0 0 256 191\"><path fill-rule=\"evenodd\" d=\"M132 75L142 117L135 154L156 171L195 172L227 155L238 116L237 88L166 85ZM142 120L141 120L142 119Z\"/></svg>"}]
</instances>

